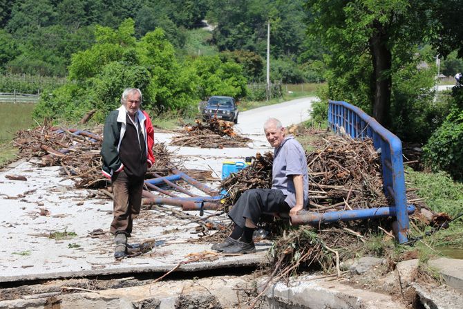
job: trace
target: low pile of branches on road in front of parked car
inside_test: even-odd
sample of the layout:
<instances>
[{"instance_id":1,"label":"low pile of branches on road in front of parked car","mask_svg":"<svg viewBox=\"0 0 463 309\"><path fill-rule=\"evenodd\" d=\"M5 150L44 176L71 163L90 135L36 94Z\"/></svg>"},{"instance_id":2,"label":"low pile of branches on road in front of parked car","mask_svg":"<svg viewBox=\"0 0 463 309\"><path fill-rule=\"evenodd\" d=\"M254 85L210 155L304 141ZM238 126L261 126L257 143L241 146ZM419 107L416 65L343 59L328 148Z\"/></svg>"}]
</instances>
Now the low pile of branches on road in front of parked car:
<instances>
[{"instance_id":1,"label":"low pile of branches on road in front of parked car","mask_svg":"<svg viewBox=\"0 0 463 309\"><path fill-rule=\"evenodd\" d=\"M218 148L247 147L251 140L240 136L233 129L233 122L209 118L207 121L195 120L195 124L184 126L187 135L176 136L171 144L180 147Z\"/></svg>"}]
</instances>

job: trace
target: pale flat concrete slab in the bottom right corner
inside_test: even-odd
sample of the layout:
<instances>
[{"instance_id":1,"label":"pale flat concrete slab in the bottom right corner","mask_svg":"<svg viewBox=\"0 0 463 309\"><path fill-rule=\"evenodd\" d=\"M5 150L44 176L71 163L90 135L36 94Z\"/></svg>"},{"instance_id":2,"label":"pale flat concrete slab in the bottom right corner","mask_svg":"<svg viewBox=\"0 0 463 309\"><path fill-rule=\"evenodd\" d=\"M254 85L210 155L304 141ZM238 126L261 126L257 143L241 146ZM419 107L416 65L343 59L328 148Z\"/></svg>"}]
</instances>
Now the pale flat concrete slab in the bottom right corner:
<instances>
[{"instance_id":1,"label":"pale flat concrete slab in the bottom right corner","mask_svg":"<svg viewBox=\"0 0 463 309\"><path fill-rule=\"evenodd\" d=\"M439 270L448 285L463 293L463 260L440 258L428 261L428 265Z\"/></svg>"}]
</instances>

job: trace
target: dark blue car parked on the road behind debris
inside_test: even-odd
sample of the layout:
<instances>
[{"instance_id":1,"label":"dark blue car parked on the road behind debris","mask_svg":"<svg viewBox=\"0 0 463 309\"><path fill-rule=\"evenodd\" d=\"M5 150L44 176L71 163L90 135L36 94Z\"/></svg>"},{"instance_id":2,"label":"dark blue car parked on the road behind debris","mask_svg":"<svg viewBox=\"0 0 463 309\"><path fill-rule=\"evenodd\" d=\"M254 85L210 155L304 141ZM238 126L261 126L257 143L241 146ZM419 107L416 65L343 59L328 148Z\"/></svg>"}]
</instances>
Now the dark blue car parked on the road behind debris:
<instances>
[{"instance_id":1,"label":"dark blue car parked on the road behind debris","mask_svg":"<svg viewBox=\"0 0 463 309\"><path fill-rule=\"evenodd\" d=\"M202 110L203 118L216 117L238 123L238 106L233 97L214 95Z\"/></svg>"}]
</instances>

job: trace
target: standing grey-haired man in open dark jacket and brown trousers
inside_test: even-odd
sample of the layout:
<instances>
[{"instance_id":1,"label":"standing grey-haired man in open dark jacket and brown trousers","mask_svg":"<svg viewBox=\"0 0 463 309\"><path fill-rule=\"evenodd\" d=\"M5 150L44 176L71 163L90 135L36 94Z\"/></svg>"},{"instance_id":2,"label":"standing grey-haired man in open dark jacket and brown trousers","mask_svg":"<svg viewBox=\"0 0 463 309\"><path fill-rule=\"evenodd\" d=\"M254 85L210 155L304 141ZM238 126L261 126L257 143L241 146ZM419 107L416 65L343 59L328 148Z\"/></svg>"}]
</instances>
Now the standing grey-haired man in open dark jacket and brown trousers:
<instances>
[{"instance_id":1,"label":"standing grey-haired man in open dark jacket and brown trousers","mask_svg":"<svg viewBox=\"0 0 463 309\"><path fill-rule=\"evenodd\" d=\"M104 124L103 174L113 183L113 222L116 259L126 254L127 237L133 218L140 214L144 174L154 162L153 125L148 114L140 110L142 92L126 88L121 106L111 111Z\"/></svg>"}]
</instances>

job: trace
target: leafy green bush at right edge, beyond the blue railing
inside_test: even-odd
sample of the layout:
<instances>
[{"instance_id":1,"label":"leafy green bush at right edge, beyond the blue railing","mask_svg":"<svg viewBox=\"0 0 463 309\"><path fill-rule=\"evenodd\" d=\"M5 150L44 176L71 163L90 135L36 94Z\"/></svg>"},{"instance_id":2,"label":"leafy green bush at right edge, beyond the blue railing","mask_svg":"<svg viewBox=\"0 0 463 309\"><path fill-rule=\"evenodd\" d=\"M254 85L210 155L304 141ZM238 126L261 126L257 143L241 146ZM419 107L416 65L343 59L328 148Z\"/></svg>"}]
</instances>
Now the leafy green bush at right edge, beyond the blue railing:
<instances>
[{"instance_id":1,"label":"leafy green bush at right edge, beyond the blue railing","mask_svg":"<svg viewBox=\"0 0 463 309\"><path fill-rule=\"evenodd\" d=\"M434 171L447 171L453 178L463 180L463 111L453 109L442 126L429 138L424 158Z\"/></svg>"}]
</instances>

